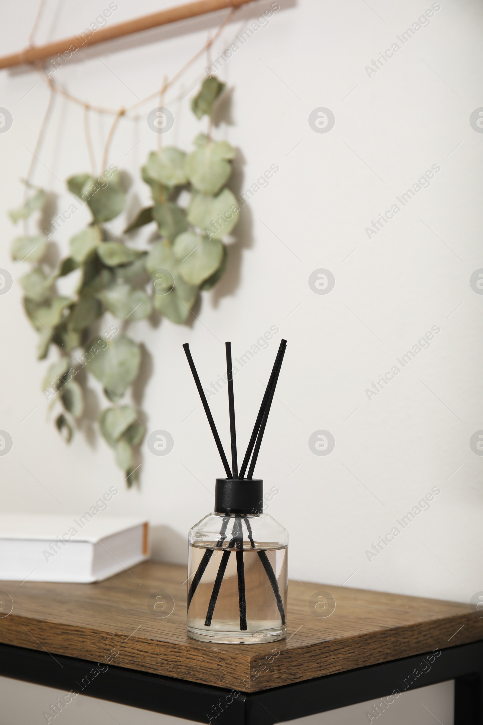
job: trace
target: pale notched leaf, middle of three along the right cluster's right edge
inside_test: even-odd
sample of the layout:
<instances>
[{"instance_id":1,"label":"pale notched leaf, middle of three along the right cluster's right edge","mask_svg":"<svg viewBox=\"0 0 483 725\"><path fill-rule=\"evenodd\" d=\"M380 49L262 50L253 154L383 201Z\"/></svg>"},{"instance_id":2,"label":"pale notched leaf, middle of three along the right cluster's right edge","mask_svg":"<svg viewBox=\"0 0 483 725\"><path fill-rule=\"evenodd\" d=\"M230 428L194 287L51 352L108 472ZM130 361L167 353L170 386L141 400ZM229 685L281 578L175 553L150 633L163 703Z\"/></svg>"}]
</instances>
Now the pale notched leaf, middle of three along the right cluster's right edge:
<instances>
[{"instance_id":1,"label":"pale notched leaf, middle of three along the right cluster's right edge","mask_svg":"<svg viewBox=\"0 0 483 725\"><path fill-rule=\"evenodd\" d=\"M211 239L222 239L238 222L240 210L235 195L224 188L218 196L193 194L188 207L188 221Z\"/></svg>"}]
</instances>

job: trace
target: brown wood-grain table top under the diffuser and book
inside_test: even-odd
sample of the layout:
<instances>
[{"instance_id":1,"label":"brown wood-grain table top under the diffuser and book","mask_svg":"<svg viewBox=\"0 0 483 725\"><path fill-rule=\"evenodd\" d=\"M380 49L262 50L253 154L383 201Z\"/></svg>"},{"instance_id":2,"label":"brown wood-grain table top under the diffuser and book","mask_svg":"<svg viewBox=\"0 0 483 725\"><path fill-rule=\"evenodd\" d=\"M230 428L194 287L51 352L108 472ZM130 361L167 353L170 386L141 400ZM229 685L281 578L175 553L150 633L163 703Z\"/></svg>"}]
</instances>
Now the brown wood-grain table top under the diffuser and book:
<instances>
[{"instance_id":1,"label":"brown wood-grain table top under the diffuser and book","mask_svg":"<svg viewBox=\"0 0 483 725\"><path fill-rule=\"evenodd\" d=\"M96 662L114 650L117 666L256 692L483 639L470 605L290 581L286 639L196 642L186 634L185 579L184 566L148 561L96 584L0 581L14 602L0 642ZM319 592L335 599L329 617L309 608ZM174 600L164 618L149 599L161 594Z\"/></svg>"}]
</instances>

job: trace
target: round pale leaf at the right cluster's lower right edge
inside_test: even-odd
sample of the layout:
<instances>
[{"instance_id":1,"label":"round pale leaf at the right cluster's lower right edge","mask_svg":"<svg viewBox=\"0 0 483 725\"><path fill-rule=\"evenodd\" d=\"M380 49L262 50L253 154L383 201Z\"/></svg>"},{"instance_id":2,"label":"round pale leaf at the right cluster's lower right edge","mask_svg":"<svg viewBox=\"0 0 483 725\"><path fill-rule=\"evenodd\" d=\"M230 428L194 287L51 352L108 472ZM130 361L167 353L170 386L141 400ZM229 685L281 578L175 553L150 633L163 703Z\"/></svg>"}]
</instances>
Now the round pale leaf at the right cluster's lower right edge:
<instances>
[{"instance_id":1,"label":"round pale leaf at the right cluster's lower right edge","mask_svg":"<svg viewBox=\"0 0 483 725\"><path fill-rule=\"evenodd\" d=\"M223 244L187 231L177 236L173 254L180 265L180 275L188 284L199 285L216 272L223 259Z\"/></svg>"}]
</instances>

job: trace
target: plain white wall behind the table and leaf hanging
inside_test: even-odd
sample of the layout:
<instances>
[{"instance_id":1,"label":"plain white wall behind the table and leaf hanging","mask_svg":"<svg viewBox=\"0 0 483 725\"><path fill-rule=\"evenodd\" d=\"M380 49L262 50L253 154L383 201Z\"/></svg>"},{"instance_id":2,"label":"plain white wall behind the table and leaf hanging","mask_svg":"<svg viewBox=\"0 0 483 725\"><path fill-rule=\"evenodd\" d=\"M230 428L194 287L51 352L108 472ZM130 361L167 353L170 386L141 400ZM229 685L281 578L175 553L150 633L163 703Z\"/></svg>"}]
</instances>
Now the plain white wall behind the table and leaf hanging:
<instances>
[{"instance_id":1,"label":"plain white wall behind the table and leaf hanging","mask_svg":"<svg viewBox=\"0 0 483 725\"><path fill-rule=\"evenodd\" d=\"M112 22L172 1L118 4ZM38 42L78 32L107 3L48 5ZM238 11L217 50L269 5ZM116 484L109 513L147 515L161 527L155 530L156 555L184 561L186 532L211 510L222 466L181 344L189 341L208 386L223 373L224 340L232 340L238 357L277 326L269 349L236 376L235 403L241 449L285 337L287 354L257 473L267 486L280 488L269 513L290 532L292 575L328 584L350 578L351 587L463 602L483 589L483 459L469 446L470 436L483 428L483 297L469 286L471 273L483 267L483 136L469 123L483 104L483 13L476 1L441 0L429 26L402 46L396 36L431 5L280 1L269 25L225 65L220 75L232 88L232 103L224 108L228 123L216 133L240 149L233 188L245 190L271 164L280 171L244 208L227 274L215 291L203 294L193 323L130 326L133 338L146 345L152 368L142 401L148 432L167 429L175 439L166 457L151 455L144 445L139 489L124 488L103 440L79 431L66 447L46 422L40 382L48 363L35 361L36 335L22 312L20 286L14 283L0 297L0 428L14 441L9 455L0 457L4 510L77 513ZM13 52L28 42L37 3L2 12L2 53ZM173 75L218 23L216 16L203 17L94 47L55 78L93 104L132 104L159 87L165 74ZM400 50L369 77L366 65L394 42ZM175 113L167 143L189 146L202 126L190 113L190 95L177 98L202 77L205 62L199 59L165 99ZM0 105L14 118L8 133L0 134L0 198L7 209L20 202L17 180L27 172L49 96L32 70L3 71L0 78ZM139 167L156 147L146 115L157 104L143 106L137 121L122 120L112 144L109 161L133 177L130 218L148 201ZM317 107L335 114L329 133L314 133L308 124ZM91 121L99 159L110 117ZM371 220L432 165L440 171L429 188L368 239ZM58 196L62 211L72 199L64 179L85 170L82 110L59 98L35 183ZM78 212L58 234L62 249L87 218ZM118 220L112 229L123 224ZM0 267L17 280L26 269L9 259L15 230L3 214L0 225ZM145 237L139 236L140 246ZM308 286L319 268L335 276L327 295ZM365 389L432 326L440 333L431 347L369 400ZM210 404L228 447L226 394ZM308 438L319 429L335 436L328 456L309 450ZM440 494L429 510L402 530L396 520L434 486ZM398 537L369 561L366 550L393 526L401 529Z\"/></svg>"}]
</instances>

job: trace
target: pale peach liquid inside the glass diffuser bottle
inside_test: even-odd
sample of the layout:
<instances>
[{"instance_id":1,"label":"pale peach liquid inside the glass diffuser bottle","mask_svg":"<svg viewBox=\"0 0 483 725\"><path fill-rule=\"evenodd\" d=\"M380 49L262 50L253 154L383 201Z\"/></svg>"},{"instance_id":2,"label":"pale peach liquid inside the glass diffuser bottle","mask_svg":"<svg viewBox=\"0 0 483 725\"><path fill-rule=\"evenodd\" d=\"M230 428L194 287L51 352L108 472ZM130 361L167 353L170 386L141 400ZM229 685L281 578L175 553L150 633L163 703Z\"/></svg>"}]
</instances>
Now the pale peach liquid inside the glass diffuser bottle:
<instances>
[{"instance_id":1,"label":"pale peach liquid inside the glass diffuser bottle","mask_svg":"<svg viewBox=\"0 0 483 725\"><path fill-rule=\"evenodd\" d=\"M253 547L247 541L243 542L243 550L237 550L228 547L229 539L227 537L219 546L190 543L188 585L196 577L200 565L203 566L203 558L206 560L209 556L209 561L190 601L188 634L194 639L209 642L273 642L282 639L285 637L287 610L287 546L272 544L270 548L264 543L261 548L255 542ZM246 623L243 616L240 622L240 555L243 555L241 568ZM213 608L213 591L220 565L224 564L226 568ZM278 598L275 592L278 592Z\"/></svg>"}]
</instances>

